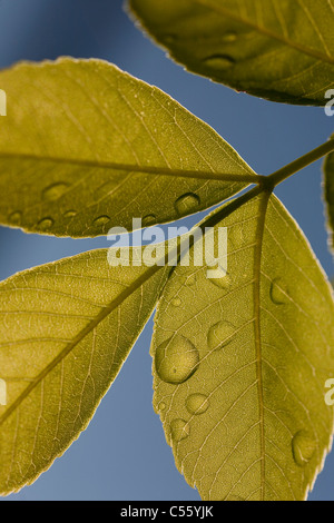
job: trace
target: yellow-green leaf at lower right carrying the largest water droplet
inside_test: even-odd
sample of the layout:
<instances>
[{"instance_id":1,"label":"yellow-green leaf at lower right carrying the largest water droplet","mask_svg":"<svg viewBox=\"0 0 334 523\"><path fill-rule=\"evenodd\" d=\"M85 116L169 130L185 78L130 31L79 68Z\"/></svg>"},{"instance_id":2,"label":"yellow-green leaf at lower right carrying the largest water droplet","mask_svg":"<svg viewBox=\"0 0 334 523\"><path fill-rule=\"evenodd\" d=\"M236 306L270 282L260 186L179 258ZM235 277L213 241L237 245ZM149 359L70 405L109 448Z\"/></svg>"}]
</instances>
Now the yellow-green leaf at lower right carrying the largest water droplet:
<instances>
[{"instance_id":1,"label":"yellow-green leaf at lower right carrying the largest water droplet","mask_svg":"<svg viewBox=\"0 0 334 523\"><path fill-rule=\"evenodd\" d=\"M332 442L332 288L276 197L235 209L227 275L179 266L164 289L154 405L204 500L304 500Z\"/></svg>"}]
</instances>

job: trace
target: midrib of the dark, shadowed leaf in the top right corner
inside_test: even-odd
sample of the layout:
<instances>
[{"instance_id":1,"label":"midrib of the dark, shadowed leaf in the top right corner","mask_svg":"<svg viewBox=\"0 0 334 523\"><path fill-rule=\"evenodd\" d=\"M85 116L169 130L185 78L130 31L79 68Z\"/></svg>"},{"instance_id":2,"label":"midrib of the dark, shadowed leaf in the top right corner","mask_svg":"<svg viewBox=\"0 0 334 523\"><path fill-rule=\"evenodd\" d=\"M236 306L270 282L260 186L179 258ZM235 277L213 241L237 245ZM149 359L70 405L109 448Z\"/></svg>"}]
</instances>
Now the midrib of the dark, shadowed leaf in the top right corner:
<instances>
[{"instance_id":1,"label":"midrib of the dark, shadowed leaf in the top right corner","mask_svg":"<svg viewBox=\"0 0 334 523\"><path fill-rule=\"evenodd\" d=\"M217 6L216 3L212 2L212 0L194 0L194 1L195 3L198 3L199 6L213 9L214 11L229 18L230 20L234 20L238 23L244 23L245 26L250 27L252 29L259 32L261 34L273 38L274 40L277 40L284 43L285 46L291 47L292 49L296 49L297 51L303 52L304 55L307 55L310 57L316 58L317 60L334 65L334 57L324 55L323 52L316 51L315 49L311 49L282 34L277 34L266 29L265 27L261 27L257 23L252 22L250 20L247 20L246 18L243 18L239 14L235 14L230 12L228 9L222 6Z\"/></svg>"}]
</instances>

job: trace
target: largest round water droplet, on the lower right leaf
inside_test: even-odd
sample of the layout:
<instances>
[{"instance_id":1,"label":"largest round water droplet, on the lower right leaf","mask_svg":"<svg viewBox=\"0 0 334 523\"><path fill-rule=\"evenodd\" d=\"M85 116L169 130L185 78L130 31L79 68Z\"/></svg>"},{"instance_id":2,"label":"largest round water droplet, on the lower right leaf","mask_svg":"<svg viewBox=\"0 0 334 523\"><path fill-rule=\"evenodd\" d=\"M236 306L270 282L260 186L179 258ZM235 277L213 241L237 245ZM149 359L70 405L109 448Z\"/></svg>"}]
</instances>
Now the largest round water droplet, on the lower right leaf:
<instances>
[{"instance_id":1,"label":"largest round water droplet, on the lower right leaf","mask_svg":"<svg viewBox=\"0 0 334 523\"><path fill-rule=\"evenodd\" d=\"M166 383L186 382L197 371L199 354L195 345L184 336L176 335L157 347L156 369Z\"/></svg>"}]
</instances>

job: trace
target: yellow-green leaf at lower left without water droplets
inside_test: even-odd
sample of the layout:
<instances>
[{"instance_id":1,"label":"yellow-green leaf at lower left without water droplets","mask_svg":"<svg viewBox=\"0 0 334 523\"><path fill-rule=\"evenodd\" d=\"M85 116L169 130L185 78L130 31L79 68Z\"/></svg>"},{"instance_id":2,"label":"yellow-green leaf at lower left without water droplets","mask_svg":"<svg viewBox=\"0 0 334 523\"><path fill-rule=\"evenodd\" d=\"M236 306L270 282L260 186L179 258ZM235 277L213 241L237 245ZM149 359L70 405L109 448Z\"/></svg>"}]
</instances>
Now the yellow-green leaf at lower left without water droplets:
<instances>
[{"instance_id":1,"label":"yellow-green leaf at lower left without water droplets","mask_svg":"<svg viewBox=\"0 0 334 523\"><path fill-rule=\"evenodd\" d=\"M0 284L1 495L33 482L86 428L166 270L110 267L101 249Z\"/></svg>"}]
</instances>

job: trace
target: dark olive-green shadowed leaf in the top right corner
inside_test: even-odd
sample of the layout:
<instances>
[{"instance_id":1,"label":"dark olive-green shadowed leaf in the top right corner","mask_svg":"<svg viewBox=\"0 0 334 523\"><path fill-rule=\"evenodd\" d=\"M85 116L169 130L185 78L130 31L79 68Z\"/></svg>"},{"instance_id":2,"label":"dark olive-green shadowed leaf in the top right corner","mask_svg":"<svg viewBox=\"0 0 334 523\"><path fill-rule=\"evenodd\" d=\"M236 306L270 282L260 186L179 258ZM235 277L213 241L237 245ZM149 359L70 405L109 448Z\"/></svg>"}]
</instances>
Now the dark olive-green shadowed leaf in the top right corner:
<instances>
[{"instance_id":1,"label":"dark olive-green shadowed leaf in the top right corner","mask_svg":"<svg viewBox=\"0 0 334 523\"><path fill-rule=\"evenodd\" d=\"M190 71L274 101L324 106L334 78L332 0L130 0Z\"/></svg>"}]
</instances>

